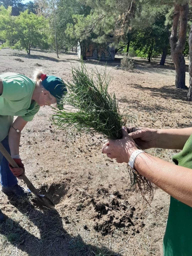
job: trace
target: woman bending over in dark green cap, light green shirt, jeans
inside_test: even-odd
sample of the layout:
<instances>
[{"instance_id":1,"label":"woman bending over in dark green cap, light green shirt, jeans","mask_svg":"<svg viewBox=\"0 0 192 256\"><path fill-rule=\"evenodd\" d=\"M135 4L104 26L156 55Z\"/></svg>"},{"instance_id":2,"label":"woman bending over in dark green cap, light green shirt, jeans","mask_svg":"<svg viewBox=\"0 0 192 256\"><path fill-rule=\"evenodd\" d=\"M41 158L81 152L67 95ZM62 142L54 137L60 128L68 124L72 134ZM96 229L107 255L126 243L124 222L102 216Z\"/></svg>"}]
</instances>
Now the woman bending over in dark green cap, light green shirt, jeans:
<instances>
[{"instance_id":1,"label":"woman bending over in dark green cap, light green shirt, jeans","mask_svg":"<svg viewBox=\"0 0 192 256\"><path fill-rule=\"evenodd\" d=\"M56 76L37 70L34 79L18 73L0 74L0 142L19 168L10 166L0 152L1 190L5 194L28 196L30 191L19 186L17 178L25 171L19 156L21 131L32 121L40 106L60 103L66 93L65 83ZM14 116L17 116L13 121ZM0 221L5 218L0 210Z\"/></svg>"}]
</instances>

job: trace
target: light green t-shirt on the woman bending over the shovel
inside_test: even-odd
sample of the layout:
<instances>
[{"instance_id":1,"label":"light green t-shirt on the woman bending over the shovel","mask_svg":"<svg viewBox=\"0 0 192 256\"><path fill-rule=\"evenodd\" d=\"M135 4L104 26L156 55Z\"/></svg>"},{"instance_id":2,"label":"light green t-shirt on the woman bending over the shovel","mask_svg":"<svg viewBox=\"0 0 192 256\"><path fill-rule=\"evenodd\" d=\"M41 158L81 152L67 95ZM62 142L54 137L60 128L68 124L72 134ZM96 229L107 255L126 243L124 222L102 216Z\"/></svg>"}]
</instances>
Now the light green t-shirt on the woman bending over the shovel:
<instances>
[{"instance_id":1,"label":"light green t-shirt on the woman bending over the shovel","mask_svg":"<svg viewBox=\"0 0 192 256\"><path fill-rule=\"evenodd\" d=\"M0 74L3 80L3 93L0 95L0 141L9 132L14 116L22 116L25 121L32 121L40 106L31 103L35 81L17 73Z\"/></svg>"}]
</instances>

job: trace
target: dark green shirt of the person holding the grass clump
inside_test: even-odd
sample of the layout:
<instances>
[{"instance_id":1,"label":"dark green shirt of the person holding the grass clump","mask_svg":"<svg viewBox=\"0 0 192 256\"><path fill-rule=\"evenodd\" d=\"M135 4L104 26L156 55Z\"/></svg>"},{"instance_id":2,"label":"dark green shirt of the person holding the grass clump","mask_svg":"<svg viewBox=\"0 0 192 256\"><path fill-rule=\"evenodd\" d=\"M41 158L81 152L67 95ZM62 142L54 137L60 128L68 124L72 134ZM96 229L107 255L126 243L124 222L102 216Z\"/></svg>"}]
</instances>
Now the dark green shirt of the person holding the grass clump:
<instances>
[{"instance_id":1,"label":"dark green shirt of the person holding the grass clump","mask_svg":"<svg viewBox=\"0 0 192 256\"><path fill-rule=\"evenodd\" d=\"M192 169L192 135L172 159L175 164ZM163 249L164 256L192 255L192 207L173 197L170 198Z\"/></svg>"}]
</instances>

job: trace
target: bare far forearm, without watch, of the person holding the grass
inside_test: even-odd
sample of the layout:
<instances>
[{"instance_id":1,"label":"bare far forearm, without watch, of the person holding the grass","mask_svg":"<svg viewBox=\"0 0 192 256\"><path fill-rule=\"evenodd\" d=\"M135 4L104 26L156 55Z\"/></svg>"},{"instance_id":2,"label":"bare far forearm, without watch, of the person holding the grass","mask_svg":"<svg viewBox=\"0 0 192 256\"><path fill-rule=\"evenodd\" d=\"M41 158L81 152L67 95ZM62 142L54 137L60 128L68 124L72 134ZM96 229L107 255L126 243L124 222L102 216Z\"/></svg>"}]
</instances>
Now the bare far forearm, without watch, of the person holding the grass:
<instances>
[{"instance_id":1,"label":"bare far forearm, without watch, of the person holding the grass","mask_svg":"<svg viewBox=\"0 0 192 256\"><path fill-rule=\"evenodd\" d=\"M192 127L183 129L159 129L156 131L155 147L182 150L191 134Z\"/></svg>"}]
</instances>

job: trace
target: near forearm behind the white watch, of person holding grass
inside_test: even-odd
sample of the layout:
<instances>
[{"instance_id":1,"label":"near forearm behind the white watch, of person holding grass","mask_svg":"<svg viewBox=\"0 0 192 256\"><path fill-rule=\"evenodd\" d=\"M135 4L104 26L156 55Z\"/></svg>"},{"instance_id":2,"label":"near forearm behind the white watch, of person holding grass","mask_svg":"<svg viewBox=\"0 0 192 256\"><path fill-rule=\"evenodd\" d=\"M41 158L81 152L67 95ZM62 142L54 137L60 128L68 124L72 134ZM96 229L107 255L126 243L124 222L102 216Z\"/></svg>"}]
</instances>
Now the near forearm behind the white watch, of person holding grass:
<instances>
[{"instance_id":1,"label":"near forearm behind the white watch, of person holding grass","mask_svg":"<svg viewBox=\"0 0 192 256\"><path fill-rule=\"evenodd\" d=\"M139 154L134 168L172 197L192 207L192 170L147 153Z\"/></svg>"}]
</instances>

